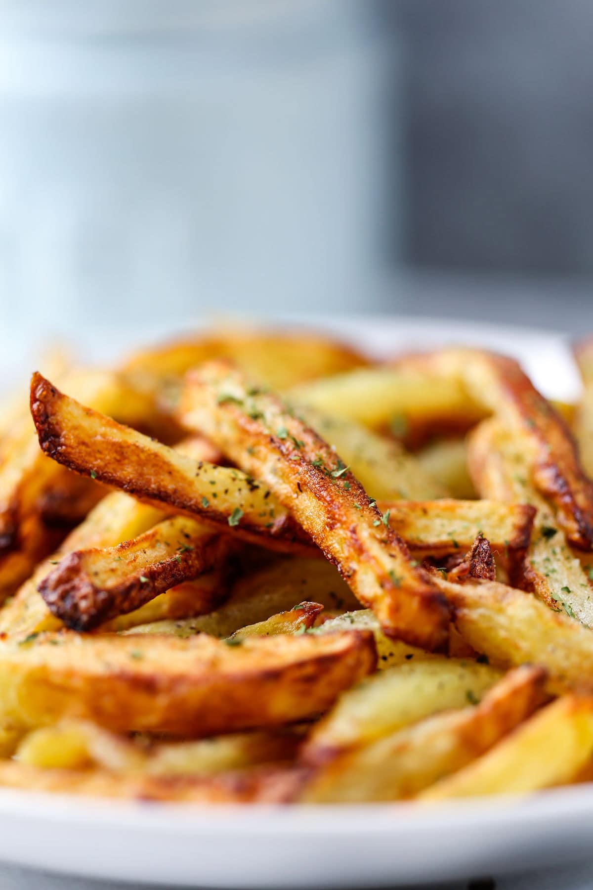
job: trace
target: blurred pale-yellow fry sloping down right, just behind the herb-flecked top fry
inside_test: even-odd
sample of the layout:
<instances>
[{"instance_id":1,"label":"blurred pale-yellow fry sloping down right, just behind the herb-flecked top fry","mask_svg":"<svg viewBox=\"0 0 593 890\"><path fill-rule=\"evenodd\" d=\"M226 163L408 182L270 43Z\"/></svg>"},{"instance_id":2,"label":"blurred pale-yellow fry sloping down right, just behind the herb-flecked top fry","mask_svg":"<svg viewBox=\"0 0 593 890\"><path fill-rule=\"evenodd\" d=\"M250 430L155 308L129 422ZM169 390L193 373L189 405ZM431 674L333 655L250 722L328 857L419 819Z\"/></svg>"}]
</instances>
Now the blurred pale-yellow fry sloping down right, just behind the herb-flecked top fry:
<instances>
[{"instance_id":1,"label":"blurred pale-yellow fry sloping down right, just behind the herb-flecked top fry","mask_svg":"<svg viewBox=\"0 0 593 890\"><path fill-rule=\"evenodd\" d=\"M397 441L315 409L299 409L298 413L341 455L372 498L390 501L444 498L447 494L445 486Z\"/></svg>"}]
</instances>

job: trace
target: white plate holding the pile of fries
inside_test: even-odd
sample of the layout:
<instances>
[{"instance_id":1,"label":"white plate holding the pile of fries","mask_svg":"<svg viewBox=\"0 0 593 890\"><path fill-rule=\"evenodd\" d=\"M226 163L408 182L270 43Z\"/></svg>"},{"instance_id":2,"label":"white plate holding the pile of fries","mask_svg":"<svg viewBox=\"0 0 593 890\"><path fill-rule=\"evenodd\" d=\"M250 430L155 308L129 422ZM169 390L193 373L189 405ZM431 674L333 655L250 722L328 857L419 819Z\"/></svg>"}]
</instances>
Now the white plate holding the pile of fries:
<instances>
[{"instance_id":1,"label":"white plate holding the pile of fries","mask_svg":"<svg viewBox=\"0 0 593 890\"><path fill-rule=\"evenodd\" d=\"M317 327L381 354L485 345L516 355L547 395L570 400L578 392L561 335L428 319L320 320ZM108 342L112 349L112 336L94 331L84 345L100 355ZM135 331L134 344L141 342ZM592 828L589 785L434 808L206 809L0 791L0 860L167 886L402 886L502 874L585 857Z\"/></svg>"}]
</instances>

